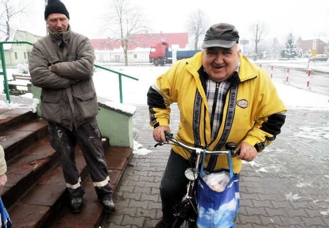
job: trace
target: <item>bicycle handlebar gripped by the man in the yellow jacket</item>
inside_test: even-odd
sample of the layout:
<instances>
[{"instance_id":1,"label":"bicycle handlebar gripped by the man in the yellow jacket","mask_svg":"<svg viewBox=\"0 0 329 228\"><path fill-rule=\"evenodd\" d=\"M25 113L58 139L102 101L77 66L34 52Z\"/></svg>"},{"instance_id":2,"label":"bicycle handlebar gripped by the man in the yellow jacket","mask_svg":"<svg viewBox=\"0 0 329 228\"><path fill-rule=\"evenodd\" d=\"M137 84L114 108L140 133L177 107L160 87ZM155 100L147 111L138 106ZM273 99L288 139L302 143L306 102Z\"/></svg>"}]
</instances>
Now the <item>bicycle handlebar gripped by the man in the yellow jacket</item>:
<instances>
[{"instance_id":1,"label":"bicycle handlebar gripped by the man in the yellow jacket","mask_svg":"<svg viewBox=\"0 0 329 228\"><path fill-rule=\"evenodd\" d=\"M169 141L171 141L173 143L171 144L171 143L160 142L160 143L157 143L154 147L162 146L165 144L171 144L171 145L176 145L176 146L185 148L187 150L195 151L197 155L199 155L202 152L205 152L206 154L229 154L229 153L231 153L231 156L233 156L233 157L240 154L240 151L235 151L235 148L236 148L235 143L226 143L225 144L226 150L209 151L209 150L205 150L203 148L190 147L182 142L179 142L179 141L177 141L177 139L175 139L173 137L173 133L170 133L168 131L165 131L165 136Z\"/></svg>"}]
</instances>

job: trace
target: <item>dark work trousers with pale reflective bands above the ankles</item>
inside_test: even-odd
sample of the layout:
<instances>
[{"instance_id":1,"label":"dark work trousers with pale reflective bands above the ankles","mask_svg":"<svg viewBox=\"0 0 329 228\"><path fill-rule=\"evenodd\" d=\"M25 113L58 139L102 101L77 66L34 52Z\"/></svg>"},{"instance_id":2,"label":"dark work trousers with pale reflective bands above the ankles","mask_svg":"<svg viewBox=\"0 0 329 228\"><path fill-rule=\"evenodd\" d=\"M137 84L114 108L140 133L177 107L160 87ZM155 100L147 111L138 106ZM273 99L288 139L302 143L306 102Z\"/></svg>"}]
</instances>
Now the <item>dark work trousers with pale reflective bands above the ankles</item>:
<instances>
[{"instance_id":1,"label":"dark work trousers with pale reflective bands above the ankles","mask_svg":"<svg viewBox=\"0 0 329 228\"><path fill-rule=\"evenodd\" d=\"M98 198L100 200L111 199L113 191L108 178L102 137L96 118L85 122L76 131L70 131L59 124L48 122L48 131L50 145L56 150L62 165L70 199L82 197L84 194L75 160L77 143L82 150Z\"/></svg>"}]
</instances>

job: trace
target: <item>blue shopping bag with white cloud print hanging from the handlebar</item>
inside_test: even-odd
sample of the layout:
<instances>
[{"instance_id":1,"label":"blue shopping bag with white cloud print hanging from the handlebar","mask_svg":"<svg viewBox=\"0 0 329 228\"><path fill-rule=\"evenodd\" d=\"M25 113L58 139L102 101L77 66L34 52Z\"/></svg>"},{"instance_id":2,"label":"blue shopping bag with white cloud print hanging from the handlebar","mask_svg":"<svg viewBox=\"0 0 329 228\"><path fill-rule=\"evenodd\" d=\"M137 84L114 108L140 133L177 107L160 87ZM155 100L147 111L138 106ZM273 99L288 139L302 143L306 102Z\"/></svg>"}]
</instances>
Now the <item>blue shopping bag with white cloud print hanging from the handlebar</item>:
<instances>
[{"instance_id":1,"label":"blue shopping bag with white cloud print hanging from the handlebar","mask_svg":"<svg viewBox=\"0 0 329 228\"><path fill-rule=\"evenodd\" d=\"M197 179L198 217L196 227L198 228L231 228L235 226L240 206L239 175L233 173L230 155L228 155L228 163L230 170L218 170L230 174L230 181L223 191L211 189L200 176ZM200 169L201 175L203 164L204 159Z\"/></svg>"}]
</instances>

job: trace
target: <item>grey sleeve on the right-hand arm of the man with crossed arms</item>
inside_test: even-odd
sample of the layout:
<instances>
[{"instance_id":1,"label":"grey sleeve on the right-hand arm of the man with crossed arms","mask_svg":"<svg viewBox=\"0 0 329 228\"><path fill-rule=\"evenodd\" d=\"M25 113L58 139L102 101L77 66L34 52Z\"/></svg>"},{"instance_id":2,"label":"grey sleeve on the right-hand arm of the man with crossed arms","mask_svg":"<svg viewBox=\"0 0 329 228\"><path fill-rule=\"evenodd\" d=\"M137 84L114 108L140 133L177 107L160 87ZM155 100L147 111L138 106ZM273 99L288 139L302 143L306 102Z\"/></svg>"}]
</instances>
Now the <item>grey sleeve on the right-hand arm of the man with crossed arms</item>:
<instances>
[{"instance_id":1,"label":"grey sleeve on the right-hand arm of the man with crossed arms","mask_svg":"<svg viewBox=\"0 0 329 228\"><path fill-rule=\"evenodd\" d=\"M94 74L95 51L92 43L86 37L77 37L77 56L74 61L56 63L51 66L51 72L62 77L89 80ZM70 58L70 57L69 57Z\"/></svg>"}]
</instances>

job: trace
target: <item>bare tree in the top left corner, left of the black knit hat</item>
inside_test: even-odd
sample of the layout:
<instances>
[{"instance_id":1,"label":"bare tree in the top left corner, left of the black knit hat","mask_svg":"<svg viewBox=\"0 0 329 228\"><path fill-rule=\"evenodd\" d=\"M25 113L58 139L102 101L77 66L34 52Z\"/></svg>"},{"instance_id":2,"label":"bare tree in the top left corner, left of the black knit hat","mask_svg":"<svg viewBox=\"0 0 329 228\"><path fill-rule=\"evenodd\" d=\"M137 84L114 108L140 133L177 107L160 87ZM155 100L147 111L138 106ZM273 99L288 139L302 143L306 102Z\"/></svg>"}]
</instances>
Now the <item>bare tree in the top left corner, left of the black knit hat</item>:
<instances>
[{"instance_id":1,"label":"bare tree in the top left corner, left of the black knit hat","mask_svg":"<svg viewBox=\"0 0 329 228\"><path fill-rule=\"evenodd\" d=\"M29 15L29 4L24 1L16 2L10 0L0 1L0 39L8 41L16 32L14 19Z\"/></svg>"}]
</instances>

